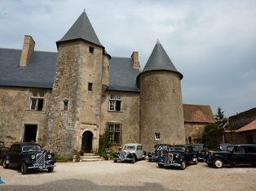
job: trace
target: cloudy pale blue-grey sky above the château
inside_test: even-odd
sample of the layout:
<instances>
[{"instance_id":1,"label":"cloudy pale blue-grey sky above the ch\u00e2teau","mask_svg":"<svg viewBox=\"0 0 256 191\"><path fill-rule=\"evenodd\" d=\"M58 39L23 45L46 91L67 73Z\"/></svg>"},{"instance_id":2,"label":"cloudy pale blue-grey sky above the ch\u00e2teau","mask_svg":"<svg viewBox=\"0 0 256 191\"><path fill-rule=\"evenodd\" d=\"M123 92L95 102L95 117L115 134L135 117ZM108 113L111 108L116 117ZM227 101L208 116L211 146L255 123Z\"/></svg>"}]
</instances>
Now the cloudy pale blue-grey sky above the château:
<instances>
[{"instance_id":1,"label":"cloudy pale blue-grey sky above the ch\u00e2teau","mask_svg":"<svg viewBox=\"0 0 256 191\"><path fill-rule=\"evenodd\" d=\"M183 74L183 103L226 117L256 107L255 0L0 0L0 47L31 35L35 50L56 52L84 9L108 54L138 51L142 69L158 39Z\"/></svg>"}]
</instances>

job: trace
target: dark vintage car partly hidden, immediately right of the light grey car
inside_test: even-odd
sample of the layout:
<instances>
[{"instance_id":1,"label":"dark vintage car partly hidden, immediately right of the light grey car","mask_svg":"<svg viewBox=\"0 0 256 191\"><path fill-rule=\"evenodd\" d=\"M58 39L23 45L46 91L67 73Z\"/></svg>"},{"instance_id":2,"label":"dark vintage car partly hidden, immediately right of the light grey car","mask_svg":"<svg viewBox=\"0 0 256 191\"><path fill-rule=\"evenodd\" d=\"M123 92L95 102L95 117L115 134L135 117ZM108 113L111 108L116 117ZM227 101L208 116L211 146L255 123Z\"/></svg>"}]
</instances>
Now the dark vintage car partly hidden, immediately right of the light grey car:
<instances>
[{"instance_id":1,"label":"dark vintage car partly hidden, immediately right of the light grey car","mask_svg":"<svg viewBox=\"0 0 256 191\"><path fill-rule=\"evenodd\" d=\"M158 161L169 149L169 144L157 144L152 152L148 152L148 162Z\"/></svg>"}]
</instances>

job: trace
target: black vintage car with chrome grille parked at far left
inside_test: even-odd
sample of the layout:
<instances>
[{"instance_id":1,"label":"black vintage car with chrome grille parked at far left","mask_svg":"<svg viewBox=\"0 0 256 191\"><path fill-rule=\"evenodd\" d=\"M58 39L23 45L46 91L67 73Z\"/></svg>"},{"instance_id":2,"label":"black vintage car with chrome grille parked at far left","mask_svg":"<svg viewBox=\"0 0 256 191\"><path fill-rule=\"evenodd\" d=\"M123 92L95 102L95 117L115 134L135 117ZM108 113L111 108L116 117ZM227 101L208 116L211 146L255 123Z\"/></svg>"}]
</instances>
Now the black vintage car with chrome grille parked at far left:
<instances>
[{"instance_id":1,"label":"black vintage car with chrome grille parked at far left","mask_svg":"<svg viewBox=\"0 0 256 191\"><path fill-rule=\"evenodd\" d=\"M55 155L51 151L41 150L40 145L32 142L15 142L2 158L2 167L20 167L24 175L28 169L47 169L52 172Z\"/></svg>"}]
</instances>

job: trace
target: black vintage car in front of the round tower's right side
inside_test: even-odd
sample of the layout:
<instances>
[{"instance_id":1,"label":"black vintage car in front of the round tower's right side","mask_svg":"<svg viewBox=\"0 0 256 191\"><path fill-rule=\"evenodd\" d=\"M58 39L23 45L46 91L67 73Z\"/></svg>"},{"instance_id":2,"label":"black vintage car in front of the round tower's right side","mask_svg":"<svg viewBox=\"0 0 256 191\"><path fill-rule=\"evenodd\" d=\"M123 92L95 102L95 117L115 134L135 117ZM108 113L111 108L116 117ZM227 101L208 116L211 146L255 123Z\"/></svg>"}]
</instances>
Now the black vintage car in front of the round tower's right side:
<instances>
[{"instance_id":1,"label":"black vintage car in front of the round tower's right side","mask_svg":"<svg viewBox=\"0 0 256 191\"><path fill-rule=\"evenodd\" d=\"M158 162L158 167L179 167L184 170L189 163L198 163L192 145L171 145L164 158Z\"/></svg>"}]
</instances>

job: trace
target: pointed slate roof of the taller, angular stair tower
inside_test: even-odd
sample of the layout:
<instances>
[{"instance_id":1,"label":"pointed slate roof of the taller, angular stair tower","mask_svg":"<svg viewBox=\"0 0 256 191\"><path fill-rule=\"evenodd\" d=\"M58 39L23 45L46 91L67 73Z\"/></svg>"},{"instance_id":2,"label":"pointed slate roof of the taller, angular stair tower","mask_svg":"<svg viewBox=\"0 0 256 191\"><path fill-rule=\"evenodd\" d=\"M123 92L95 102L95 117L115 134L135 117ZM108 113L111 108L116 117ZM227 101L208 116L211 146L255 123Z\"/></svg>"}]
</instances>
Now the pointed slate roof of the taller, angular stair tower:
<instances>
[{"instance_id":1,"label":"pointed slate roof of the taller, angular stair tower","mask_svg":"<svg viewBox=\"0 0 256 191\"><path fill-rule=\"evenodd\" d=\"M61 41L71 41L76 39L83 39L85 41L90 41L95 45L104 47L99 42L95 30L93 29L92 25L90 24L90 20L86 15L86 12L82 12L73 26L69 28L64 37L61 38L60 41L57 41L56 44L58 46Z\"/></svg>"}]
</instances>

